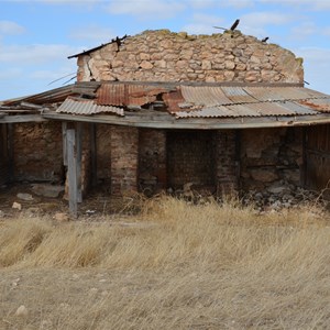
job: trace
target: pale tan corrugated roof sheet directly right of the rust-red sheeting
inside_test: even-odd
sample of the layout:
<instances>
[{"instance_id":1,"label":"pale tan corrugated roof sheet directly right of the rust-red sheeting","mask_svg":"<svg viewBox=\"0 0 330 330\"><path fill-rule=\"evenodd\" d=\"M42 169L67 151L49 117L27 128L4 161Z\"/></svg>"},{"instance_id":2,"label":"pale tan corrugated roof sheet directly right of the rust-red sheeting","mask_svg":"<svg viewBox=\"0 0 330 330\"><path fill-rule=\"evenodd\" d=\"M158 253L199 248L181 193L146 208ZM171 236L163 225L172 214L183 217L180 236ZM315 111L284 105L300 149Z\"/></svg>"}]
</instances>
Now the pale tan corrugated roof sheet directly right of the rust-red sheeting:
<instances>
[{"instance_id":1,"label":"pale tan corrugated roof sheet directly right of the rust-red sheeting","mask_svg":"<svg viewBox=\"0 0 330 330\"><path fill-rule=\"evenodd\" d=\"M223 106L233 101L228 98L221 87L213 86L182 86L182 94L186 102L196 106Z\"/></svg>"}]
</instances>

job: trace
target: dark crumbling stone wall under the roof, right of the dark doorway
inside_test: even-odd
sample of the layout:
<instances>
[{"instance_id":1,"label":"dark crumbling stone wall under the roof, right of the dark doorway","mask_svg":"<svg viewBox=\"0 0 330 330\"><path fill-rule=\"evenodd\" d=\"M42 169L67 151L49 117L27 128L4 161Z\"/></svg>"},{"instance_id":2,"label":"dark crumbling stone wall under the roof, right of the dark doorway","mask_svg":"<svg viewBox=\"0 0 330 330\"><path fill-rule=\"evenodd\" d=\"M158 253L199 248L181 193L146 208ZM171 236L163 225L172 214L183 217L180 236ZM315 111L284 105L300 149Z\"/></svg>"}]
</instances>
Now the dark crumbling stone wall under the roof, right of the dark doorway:
<instances>
[{"instance_id":1,"label":"dark crumbling stone wall under the roof, right of the dark doorway","mask_svg":"<svg viewBox=\"0 0 330 330\"><path fill-rule=\"evenodd\" d=\"M241 183L243 189L263 190L276 182L300 184L302 129L243 130Z\"/></svg>"}]
</instances>

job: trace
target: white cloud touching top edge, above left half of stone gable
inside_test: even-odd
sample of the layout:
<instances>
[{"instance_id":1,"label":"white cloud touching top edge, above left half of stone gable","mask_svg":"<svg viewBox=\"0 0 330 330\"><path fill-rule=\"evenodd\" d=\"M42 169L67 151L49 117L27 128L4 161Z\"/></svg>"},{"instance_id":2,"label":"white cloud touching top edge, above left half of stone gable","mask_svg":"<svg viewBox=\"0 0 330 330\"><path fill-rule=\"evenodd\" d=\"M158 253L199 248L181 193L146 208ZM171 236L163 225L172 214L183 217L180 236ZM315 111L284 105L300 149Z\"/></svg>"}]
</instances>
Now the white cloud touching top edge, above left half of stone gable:
<instances>
[{"instance_id":1,"label":"white cloud touching top edge, above left half of stone gable","mask_svg":"<svg viewBox=\"0 0 330 330\"><path fill-rule=\"evenodd\" d=\"M107 10L112 14L129 14L141 20L169 19L186 4L174 0L112 0Z\"/></svg>"}]
</instances>

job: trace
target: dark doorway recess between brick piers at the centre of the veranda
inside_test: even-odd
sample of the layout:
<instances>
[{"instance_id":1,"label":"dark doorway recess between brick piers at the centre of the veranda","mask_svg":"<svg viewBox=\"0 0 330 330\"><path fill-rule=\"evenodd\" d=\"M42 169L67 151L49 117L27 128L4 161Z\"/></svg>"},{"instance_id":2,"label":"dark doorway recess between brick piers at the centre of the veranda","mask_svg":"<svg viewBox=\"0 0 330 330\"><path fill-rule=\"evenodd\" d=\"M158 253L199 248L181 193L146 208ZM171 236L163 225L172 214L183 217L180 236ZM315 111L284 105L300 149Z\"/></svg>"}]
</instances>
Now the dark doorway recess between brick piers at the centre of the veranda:
<instances>
[{"instance_id":1,"label":"dark doorway recess between brick piers at the centre of the veranda","mask_svg":"<svg viewBox=\"0 0 330 330\"><path fill-rule=\"evenodd\" d=\"M182 189L215 189L216 162L212 131L167 132L167 185Z\"/></svg>"}]
</instances>

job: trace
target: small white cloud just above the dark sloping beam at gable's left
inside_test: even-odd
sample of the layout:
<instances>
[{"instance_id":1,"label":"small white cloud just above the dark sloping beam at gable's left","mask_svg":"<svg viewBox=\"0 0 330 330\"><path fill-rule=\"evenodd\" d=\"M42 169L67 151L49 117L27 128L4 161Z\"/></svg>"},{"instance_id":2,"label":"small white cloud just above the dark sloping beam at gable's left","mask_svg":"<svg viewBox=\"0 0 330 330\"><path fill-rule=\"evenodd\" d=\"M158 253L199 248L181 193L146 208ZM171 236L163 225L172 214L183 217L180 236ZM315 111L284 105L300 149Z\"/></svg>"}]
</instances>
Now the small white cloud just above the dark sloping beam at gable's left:
<instances>
[{"instance_id":1,"label":"small white cloud just above the dark sloping beam at gable's left","mask_svg":"<svg viewBox=\"0 0 330 330\"><path fill-rule=\"evenodd\" d=\"M96 24L84 25L74 29L69 36L76 40L92 41L97 43L108 42L113 38L114 33L109 28L98 26Z\"/></svg>"}]
</instances>

